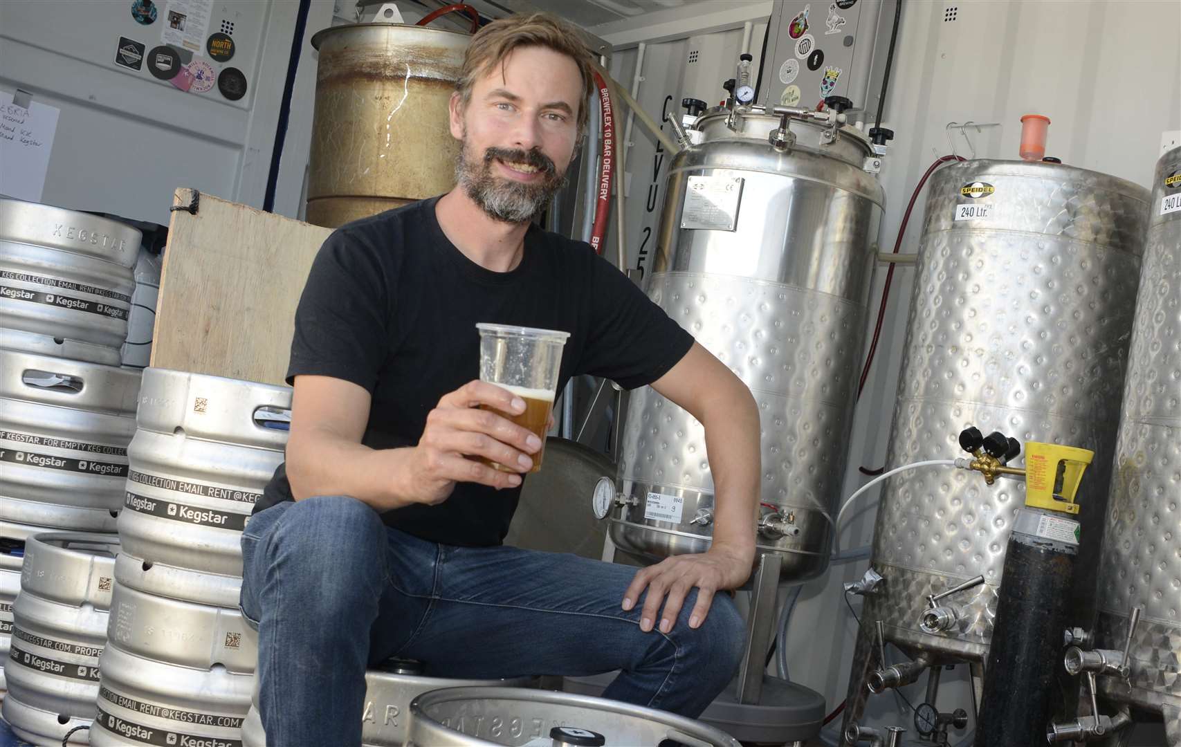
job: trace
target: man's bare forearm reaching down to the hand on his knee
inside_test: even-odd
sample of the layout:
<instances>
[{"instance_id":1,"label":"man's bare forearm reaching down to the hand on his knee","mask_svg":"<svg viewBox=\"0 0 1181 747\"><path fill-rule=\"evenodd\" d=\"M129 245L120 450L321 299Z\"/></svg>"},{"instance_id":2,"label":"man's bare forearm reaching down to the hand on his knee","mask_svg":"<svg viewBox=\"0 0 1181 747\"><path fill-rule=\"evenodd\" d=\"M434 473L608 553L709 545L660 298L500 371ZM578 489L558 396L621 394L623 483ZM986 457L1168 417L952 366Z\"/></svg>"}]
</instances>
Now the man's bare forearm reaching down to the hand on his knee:
<instances>
[{"instance_id":1,"label":"man's bare forearm reaching down to the hand on his knee","mask_svg":"<svg viewBox=\"0 0 1181 747\"><path fill-rule=\"evenodd\" d=\"M713 473L713 546L755 559L759 480L758 406L740 381L711 398L702 425Z\"/></svg>"}]
</instances>

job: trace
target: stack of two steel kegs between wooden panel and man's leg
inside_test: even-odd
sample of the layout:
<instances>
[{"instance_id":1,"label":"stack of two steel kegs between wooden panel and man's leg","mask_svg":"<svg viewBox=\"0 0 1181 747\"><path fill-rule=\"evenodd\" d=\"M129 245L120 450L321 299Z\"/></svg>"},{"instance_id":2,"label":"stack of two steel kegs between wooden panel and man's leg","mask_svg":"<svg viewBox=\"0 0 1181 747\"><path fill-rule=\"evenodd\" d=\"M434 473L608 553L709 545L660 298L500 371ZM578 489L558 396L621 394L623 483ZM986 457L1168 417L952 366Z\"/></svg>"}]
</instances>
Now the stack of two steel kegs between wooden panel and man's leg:
<instances>
[{"instance_id":1,"label":"stack of two steel kegs between wooden panel and man's leg","mask_svg":"<svg viewBox=\"0 0 1181 747\"><path fill-rule=\"evenodd\" d=\"M287 387L144 371L91 745L241 745L256 643L240 538L289 407Z\"/></svg>"}]
</instances>

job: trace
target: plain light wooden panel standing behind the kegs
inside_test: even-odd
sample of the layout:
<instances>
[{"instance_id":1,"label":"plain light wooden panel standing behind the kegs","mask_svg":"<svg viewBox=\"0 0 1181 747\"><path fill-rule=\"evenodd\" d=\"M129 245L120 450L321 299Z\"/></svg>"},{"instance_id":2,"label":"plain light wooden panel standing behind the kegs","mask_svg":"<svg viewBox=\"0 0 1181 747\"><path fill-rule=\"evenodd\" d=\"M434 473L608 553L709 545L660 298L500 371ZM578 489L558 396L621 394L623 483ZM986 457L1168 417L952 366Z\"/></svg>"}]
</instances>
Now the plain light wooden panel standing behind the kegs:
<instances>
[{"instance_id":1,"label":"plain light wooden panel standing behind the kegs","mask_svg":"<svg viewBox=\"0 0 1181 747\"><path fill-rule=\"evenodd\" d=\"M178 189L172 204L195 195ZM283 384L295 304L331 232L210 195L172 212L151 365Z\"/></svg>"}]
</instances>

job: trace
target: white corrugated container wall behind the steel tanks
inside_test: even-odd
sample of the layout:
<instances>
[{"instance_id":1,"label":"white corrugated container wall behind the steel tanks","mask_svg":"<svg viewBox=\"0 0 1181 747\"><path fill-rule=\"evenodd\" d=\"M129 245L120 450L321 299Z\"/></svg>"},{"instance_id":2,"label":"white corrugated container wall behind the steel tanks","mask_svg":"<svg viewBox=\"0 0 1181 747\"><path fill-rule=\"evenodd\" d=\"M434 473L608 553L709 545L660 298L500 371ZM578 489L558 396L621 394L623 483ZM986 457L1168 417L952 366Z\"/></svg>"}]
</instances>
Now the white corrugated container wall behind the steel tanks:
<instances>
[{"instance_id":1,"label":"white corrugated container wall behind the steel tanks","mask_svg":"<svg viewBox=\"0 0 1181 747\"><path fill-rule=\"evenodd\" d=\"M648 27L638 19L626 28L612 24L590 31L616 45L612 72L628 87L637 44L654 41L645 48L639 100L658 117L666 101L679 114L680 99L686 96L717 104L724 96L720 83L733 76L743 21L765 24L771 11L771 2L735 4L729 24L715 14L702 21L702 27L694 27L692 18L676 22L663 19ZM765 25L757 26L751 44L756 58L763 28ZM974 149L981 158L1017 158L1020 117L1042 113L1052 120L1046 155L1149 186L1163 144L1181 143L1179 32L1181 4L1172 0L905 1L883 122L896 139L881 175L887 192L881 249L893 248L919 177L938 156L950 152L945 133L950 122L999 123L979 132L970 127L971 146L953 130L959 155L971 156ZM715 90L685 86L686 80L709 77L704 70L690 74L691 46L713 51L707 61L716 66ZM766 74L771 71L764 71ZM634 145L626 164L628 267L648 268L654 250L654 236L648 238L648 232L654 232L659 219L670 157L657 153L653 138L639 125L631 142ZM657 204L650 210L653 192ZM920 197L903 253L918 249L922 205ZM608 256L615 256L614 238L608 243ZM883 277L881 267L870 296L872 317ZM857 406L844 494L868 479L857 472L859 466L875 468L885 461L912 283L913 269L899 266L873 371ZM861 509L852 512L841 536L842 548L872 540L877 492L875 489L864 496ZM823 694L830 705L844 699L856 635L842 584L860 577L866 566L864 561L835 566L824 578L808 584L792 616L792 677ZM860 599L853 603L860 611ZM964 669L959 667L957 676L945 674L941 710L963 707L971 712ZM922 687L920 681L905 690L915 705L922 699ZM890 695L870 699L868 714L869 722L912 726L908 709ZM1163 742L1155 727L1140 727L1135 739L1137 745Z\"/></svg>"}]
</instances>

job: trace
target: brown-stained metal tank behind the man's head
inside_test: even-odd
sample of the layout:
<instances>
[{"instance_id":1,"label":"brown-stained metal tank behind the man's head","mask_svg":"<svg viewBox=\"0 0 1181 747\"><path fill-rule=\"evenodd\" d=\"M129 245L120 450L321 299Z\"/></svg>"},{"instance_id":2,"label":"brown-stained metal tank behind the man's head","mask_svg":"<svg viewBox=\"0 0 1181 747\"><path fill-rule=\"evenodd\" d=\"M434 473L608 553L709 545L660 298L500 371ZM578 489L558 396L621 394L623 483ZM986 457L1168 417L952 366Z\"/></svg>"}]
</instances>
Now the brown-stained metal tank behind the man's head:
<instances>
[{"instance_id":1,"label":"brown-stained metal tank behind the man's head","mask_svg":"<svg viewBox=\"0 0 1181 747\"><path fill-rule=\"evenodd\" d=\"M468 34L351 24L312 37L319 53L307 219L337 227L455 185L448 103Z\"/></svg>"}]
</instances>

